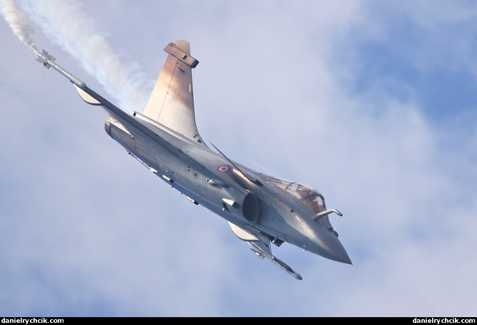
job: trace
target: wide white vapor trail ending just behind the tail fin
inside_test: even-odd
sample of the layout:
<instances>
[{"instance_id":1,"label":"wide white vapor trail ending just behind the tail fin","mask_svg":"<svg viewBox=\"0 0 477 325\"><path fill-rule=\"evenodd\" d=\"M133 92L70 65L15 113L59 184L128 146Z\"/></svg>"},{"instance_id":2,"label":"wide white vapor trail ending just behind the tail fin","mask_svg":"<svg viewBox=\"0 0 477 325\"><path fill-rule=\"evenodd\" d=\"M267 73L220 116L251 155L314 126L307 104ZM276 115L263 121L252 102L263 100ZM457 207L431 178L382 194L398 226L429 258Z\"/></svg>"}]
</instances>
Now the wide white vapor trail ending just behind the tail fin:
<instances>
[{"instance_id":1,"label":"wide white vapor trail ending just behind the tail fin","mask_svg":"<svg viewBox=\"0 0 477 325\"><path fill-rule=\"evenodd\" d=\"M19 0L19 4L48 39L76 58L123 110L143 110L150 95L143 74L123 65L78 1Z\"/></svg>"}]
</instances>

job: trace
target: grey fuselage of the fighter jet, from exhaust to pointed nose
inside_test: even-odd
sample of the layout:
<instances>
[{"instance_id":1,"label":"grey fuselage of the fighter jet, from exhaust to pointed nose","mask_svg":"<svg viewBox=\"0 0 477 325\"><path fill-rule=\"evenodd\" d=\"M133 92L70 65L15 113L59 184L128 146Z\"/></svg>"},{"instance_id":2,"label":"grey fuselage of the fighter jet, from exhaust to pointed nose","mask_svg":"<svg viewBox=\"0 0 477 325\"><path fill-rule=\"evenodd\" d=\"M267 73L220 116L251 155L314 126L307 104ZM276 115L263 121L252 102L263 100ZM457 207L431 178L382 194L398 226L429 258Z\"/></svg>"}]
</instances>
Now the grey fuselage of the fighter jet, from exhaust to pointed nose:
<instances>
[{"instance_id":1,"label":"grey fuselage of the fighter jet, from exhaust to pointed nose","mask_svg":"<svg viewBox=\"0 0 477 325\"><path fill-rule=\"evenodd\" d=\"M250 182L223 155L174 134L163 125L152 124L140 113L133 115L158 138L173 145L177 154L165 150L137 130L128 130L111 116L105 123L106 132L191 202L207 207L232 224L277 246L289 242L322 257L351 263L328 218L312 220L317 212L296 195L275 185L277 180L284 180L240 165L240 170L257 177L260 185ZM322 210L326 210L324 200L322 206Z\"/></svg>"}]
</instances>

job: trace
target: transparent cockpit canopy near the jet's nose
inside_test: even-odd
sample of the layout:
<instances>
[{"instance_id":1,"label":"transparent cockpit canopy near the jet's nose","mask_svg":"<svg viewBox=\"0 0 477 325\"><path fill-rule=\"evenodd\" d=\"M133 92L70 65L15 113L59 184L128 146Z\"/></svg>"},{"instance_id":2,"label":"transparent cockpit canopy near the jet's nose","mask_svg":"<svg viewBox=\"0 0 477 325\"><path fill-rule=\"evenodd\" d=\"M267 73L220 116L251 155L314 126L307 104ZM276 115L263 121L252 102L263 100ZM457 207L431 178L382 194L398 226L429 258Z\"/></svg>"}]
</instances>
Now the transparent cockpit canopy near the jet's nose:
<instances>
[{"instance_id":1,"label":"transparent cockpit canopy near the jet's nose","mask_svg":"<svg viewBox=\"0 0 477 325\"><path fill-rule=\"evenodd\" d=\"M288 192L298 200L302 201L304 205L313 211L314 214L327 210L326 205L324 204L323 195L313 187L309 187L308 185L299 182L292 182L291 180L283 180L277 177L270 177L267 182L279 187L281 190ZM323 217L323 219L326 220L327 218L328 217L326 216Z\"/></svg>"}]
</instances>

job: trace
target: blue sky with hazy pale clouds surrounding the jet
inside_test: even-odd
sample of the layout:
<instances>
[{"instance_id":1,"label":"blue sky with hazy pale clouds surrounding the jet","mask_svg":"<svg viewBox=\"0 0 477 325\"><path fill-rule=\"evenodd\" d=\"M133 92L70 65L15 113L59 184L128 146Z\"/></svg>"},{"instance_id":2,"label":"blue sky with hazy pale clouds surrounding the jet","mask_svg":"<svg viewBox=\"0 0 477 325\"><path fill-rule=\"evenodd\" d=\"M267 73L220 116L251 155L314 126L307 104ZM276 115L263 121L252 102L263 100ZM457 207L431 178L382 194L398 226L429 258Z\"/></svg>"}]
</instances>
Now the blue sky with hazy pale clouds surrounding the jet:
<instances>
[{"instance_id":1,"label":"blue sky with hazy pale clouds surrounding the jet","mask_svg":"<svg viewBox=\"0 0 477 325\"><path fill-rule=\"evenodd\" d=\"M190 41L202 138L320 190L354 265L275 248L298 282L257 259L130 158L4 22L0 314L475 316L473 1L59 2L16 1L36 45L126 111L143 105L85 70L93 38L68 40L73 22L140 94L165 45Z\"/></svg>"}]
</instances>

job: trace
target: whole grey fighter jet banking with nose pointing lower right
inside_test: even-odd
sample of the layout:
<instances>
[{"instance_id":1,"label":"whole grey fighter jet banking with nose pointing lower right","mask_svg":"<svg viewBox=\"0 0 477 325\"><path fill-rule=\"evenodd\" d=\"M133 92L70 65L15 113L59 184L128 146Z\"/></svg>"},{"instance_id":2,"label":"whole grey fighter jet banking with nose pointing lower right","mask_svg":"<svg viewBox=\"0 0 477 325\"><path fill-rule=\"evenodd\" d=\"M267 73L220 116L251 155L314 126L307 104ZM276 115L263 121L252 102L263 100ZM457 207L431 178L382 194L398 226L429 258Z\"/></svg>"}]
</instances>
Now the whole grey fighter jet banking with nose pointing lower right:
<instances>
[{"instance_id":1,"label":"whole grey fighter jet banking with nose pointing lower right","mask_svg":"<svg viewBox=\"0 0 477 325\"><path fill-rule=\"evenodd\" d=\"M36 60L74 84L83 100L108 113L106 133L153 174L229 222L260 259L270 259L296 279L302 276L272 254L284 242L337 262L352 264L329 215L323 195L313 187L257 172L211 150L195 124L188 41L165 46L163 70L143 113L125 113L56 63L48 52Z\"/></svg>"}]
</instances>

